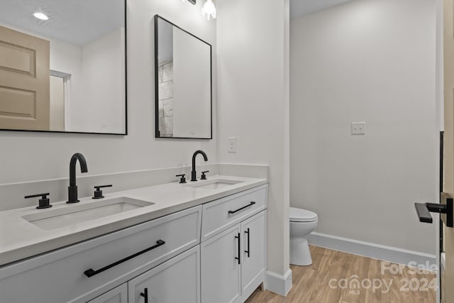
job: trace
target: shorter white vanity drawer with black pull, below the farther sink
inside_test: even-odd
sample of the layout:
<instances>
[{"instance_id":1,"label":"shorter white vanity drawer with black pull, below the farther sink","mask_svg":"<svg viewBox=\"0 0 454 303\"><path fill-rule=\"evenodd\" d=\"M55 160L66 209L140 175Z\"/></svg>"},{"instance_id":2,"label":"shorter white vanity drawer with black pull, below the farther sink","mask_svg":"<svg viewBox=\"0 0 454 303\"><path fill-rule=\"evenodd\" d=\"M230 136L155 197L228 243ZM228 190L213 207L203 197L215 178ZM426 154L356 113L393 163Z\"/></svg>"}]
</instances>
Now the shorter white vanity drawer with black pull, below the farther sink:
<instances>
[{"instance_id":1,"label":"shorter white vanity drawer with black pull, below the farther sink","mask_svg":"<svg viewBox=\"0 0 454 303\"><path fill-rule=\"evenodd\" d=\"M266 209L267 189L267 185L262 185L204 204L201 241Z\"/></svg>"}]
</instances>

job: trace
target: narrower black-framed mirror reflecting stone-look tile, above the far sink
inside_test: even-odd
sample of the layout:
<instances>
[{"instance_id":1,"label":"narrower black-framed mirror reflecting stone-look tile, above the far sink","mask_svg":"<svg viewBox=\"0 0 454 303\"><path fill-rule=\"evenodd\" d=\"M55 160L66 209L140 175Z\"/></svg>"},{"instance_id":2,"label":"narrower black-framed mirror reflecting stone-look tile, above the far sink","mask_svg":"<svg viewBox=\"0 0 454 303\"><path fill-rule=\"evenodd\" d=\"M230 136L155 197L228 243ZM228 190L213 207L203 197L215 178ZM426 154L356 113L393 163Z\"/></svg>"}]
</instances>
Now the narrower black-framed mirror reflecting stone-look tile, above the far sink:
<instances>
[{"instance_id":1,"label":"narrower black-framed mirror reflecting stone-look tile, above the far sink","mask_svg":"<svg viewBox=\"0 0 454 303\"><path fill-rule=\"evenodd\" d=\"M155 137L211 139L211 45L155 16Z\"/></svg>"}]
</instances>

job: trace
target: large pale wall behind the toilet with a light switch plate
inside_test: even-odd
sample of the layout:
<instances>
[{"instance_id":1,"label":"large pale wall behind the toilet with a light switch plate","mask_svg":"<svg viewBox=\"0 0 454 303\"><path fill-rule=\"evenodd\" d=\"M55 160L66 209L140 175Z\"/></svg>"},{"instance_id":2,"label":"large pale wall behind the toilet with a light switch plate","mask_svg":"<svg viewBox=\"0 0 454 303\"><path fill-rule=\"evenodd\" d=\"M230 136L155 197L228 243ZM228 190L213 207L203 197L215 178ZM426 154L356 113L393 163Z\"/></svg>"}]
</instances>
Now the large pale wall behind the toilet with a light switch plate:
<instances>
[{"instance_id":1,"label":"large pale wall behind the toilet with a light switch plate","mask_svg":"<svg viewBox=\"0 0 454 303\"><path fill-rule=\"evenodd\" d=\"M290 204L319 232L436 253L414 210L438 201L435 16L435 1L356 0L292 20Z\"/></svg>"}]
</instances>

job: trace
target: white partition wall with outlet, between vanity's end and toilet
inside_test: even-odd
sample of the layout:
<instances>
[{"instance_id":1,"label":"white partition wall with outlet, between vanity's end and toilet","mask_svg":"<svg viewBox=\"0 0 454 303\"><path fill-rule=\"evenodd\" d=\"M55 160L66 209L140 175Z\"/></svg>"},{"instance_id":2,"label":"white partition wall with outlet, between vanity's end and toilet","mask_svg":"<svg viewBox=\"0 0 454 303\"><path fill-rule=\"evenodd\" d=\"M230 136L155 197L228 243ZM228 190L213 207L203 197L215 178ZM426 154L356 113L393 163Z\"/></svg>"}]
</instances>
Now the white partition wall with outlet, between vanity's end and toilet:
<instances>
[{"instance_id":1,"label":"white partition wall with outlet, between vanity's end and toilet","mask_svg":"<svg viewBox=\"0 0 454 303\"><path fill-rule=\"evenodd\" d=\"M218 160L270 165L267 265L284 275L289 269L288 1L223 0L216 6ZM237 138L237 153L227 152L230 136Z\"/></svg>"}]
</instances>

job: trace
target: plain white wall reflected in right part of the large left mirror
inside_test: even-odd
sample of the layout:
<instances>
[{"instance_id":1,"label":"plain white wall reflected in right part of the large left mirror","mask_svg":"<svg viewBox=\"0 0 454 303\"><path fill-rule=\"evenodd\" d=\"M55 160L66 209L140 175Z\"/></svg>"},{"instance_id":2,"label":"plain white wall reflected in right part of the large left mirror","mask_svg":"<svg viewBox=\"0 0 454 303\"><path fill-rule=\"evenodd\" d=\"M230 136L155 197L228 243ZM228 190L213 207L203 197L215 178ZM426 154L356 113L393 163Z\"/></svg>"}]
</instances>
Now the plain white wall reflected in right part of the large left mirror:
<instances>
[{"instance_id":1,"label":"plain white wall reflected in right part of the large left mirror","mask_svg":"<svg viewBox=\"0 0 454 303\"><path fill-rule=\"evenodd\" d=\"M125 132L124 31L117 28L82 47L84 97L71 102L71 115L80 114L72 119L71 131Z\"/></svg>"}]
</instances>

